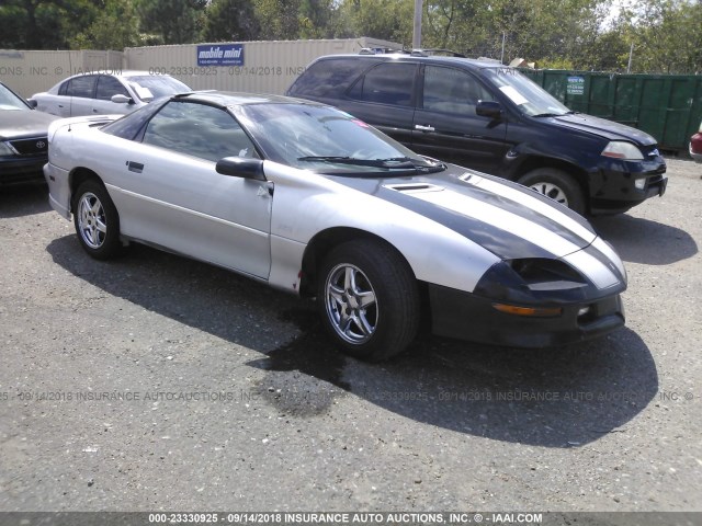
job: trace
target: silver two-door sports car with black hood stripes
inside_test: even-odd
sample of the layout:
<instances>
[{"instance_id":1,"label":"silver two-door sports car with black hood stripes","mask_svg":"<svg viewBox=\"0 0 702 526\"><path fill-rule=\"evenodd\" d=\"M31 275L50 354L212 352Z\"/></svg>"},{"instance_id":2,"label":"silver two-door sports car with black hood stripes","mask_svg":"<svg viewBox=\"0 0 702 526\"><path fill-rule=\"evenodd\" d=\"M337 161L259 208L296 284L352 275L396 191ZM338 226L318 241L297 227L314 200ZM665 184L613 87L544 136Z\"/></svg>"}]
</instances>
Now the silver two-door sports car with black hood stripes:
<instances>
[{"instance_id":1,"label":"silver two-door sports car with black hood stripes","mask_svg":"<svg viewBox=\"0 0 702 526\"><path fill-rule=\"evenodd\" d=\"M333 107L173 95L60 119L44 172L91 256L137 241L315 297L349 354L434 333L540 347L624 324L624 266L571 210L414 153Z\"/></svg>"}]
</instances>

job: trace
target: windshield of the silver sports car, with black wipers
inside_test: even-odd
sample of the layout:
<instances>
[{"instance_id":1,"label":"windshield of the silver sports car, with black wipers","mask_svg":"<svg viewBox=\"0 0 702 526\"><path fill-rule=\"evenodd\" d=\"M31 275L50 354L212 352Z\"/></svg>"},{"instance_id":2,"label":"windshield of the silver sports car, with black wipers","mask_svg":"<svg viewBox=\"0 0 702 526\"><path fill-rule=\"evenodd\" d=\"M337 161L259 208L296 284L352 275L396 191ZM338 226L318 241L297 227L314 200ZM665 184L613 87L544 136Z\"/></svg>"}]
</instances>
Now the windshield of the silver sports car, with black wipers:
<instances>
[{"instance_id":1,"label":"windshield of the silver sports car, with black wipers","mask_svg":"<svg viewBox=\"0 0 702 526\"><path fill-rule=\"evenodd\" d=\"M444 169L333 107L251 104L240 112L267 157L294 168L358 175Z\"/></svg>"}]
</instances>

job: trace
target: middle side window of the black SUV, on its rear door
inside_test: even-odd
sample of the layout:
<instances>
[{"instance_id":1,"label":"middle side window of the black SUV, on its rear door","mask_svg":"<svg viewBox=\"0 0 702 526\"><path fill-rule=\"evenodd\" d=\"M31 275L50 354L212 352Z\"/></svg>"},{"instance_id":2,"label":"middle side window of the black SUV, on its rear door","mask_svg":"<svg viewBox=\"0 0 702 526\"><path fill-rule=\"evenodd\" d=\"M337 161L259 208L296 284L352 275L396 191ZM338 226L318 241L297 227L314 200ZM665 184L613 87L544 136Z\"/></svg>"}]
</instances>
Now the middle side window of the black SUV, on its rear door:
<instances>
[{"instance_id":1,"label":"middle side window of the black SUV, on its rear door","mask_svg":"<svg viewBox=\"0 0 702 526\"><path fill-rule=\"evenodd\" d=\"M417 66L414 64L383 62L365 73L349 95L367 102L409 106Z\"/></svg>"}]
</instances>

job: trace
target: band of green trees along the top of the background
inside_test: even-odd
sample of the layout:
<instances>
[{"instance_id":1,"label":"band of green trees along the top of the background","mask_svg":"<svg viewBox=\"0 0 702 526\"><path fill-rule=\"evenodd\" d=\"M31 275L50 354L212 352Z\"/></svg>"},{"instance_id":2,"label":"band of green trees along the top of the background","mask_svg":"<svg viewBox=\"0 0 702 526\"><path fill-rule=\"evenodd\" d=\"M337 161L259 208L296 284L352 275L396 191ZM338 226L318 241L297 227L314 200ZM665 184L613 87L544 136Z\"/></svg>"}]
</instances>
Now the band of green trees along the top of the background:
<instances>
[{"instance_id":1,"label":"band of green trees along the top of the background","mask_svg":"<svg viewBox=\"0 0 702 526\"><path fill-rule=\"evenodd\" d=\"M611 10L622 5L619 16ZM422 47L540 67L702 72L702 0L423 0ZM351 38L412 43L415 0L3 0L0 47Z\"/></svg>"}]
</instances>

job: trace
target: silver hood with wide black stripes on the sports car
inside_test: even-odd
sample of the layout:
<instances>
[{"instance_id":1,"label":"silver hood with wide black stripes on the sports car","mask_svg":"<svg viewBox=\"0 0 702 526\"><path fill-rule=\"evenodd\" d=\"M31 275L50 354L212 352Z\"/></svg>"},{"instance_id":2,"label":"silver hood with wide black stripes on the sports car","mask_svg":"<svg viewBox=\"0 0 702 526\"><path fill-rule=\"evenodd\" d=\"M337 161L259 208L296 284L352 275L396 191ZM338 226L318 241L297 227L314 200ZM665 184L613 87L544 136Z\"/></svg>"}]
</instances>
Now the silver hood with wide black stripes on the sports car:
<instances>
[{"instance_id":1,"label":"silver hood with wide black stripes on the sports car","mask_svg":"<svg viewBox=\"0 0 702 526\"><path fill-rule=\"evenodd\" d=\"M420 214L502 260L563 258L597 239L592 227L568 208L519 184L460 167L426 176L329 178Z\"/></svg>"}]
</instances>

